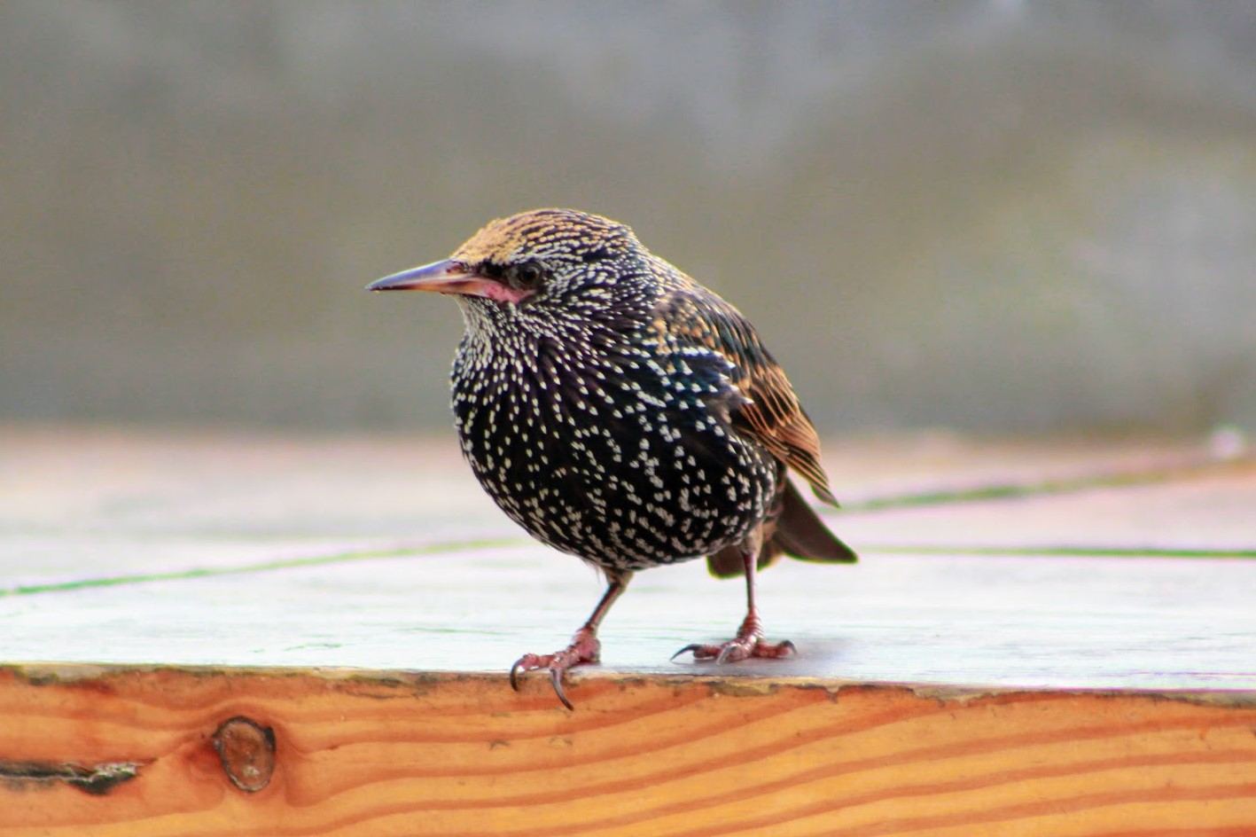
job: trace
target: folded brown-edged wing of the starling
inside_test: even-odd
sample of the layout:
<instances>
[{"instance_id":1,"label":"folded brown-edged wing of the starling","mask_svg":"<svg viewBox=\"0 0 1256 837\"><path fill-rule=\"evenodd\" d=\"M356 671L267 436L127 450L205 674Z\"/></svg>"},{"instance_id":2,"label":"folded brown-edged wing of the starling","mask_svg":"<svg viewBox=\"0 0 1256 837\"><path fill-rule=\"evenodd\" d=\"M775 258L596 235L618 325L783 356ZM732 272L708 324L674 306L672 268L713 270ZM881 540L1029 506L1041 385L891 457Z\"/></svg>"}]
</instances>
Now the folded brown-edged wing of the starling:
<instances>
[{"instance_id":1,"label":"folded brown-edged wing of the starling","mask_svg":"<svg viewBox=\"0 0 1256 837\"><path fill-rule=\"evenodd\" d=\"M838 505L820 466L820 437L794 395L785 369L759 341L755 327L736 308L705 288L671 292L656 309L657 327L672 341L722 354L731 383L742 398L732 407L734 429L757 440L798 471L818 498Z\"/></svg>"}]
</instances>

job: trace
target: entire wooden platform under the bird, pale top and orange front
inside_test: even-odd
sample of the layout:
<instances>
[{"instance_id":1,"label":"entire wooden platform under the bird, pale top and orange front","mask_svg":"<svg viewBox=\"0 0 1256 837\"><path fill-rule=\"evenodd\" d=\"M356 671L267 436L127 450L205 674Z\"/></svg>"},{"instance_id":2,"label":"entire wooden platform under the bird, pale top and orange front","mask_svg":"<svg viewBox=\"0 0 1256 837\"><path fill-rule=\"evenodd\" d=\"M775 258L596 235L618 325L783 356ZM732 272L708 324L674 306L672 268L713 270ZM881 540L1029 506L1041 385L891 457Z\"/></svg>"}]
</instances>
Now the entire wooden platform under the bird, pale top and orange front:
<instances>
[{"instance_id":1,"label":"entire wooden platform under the bird, pale top and orange front","mask_svg":"<svg viewBox=\"0 0 1256 837\"><path fill-rule=\"evenodd\" d=\"M826 447L862 555L600 592L451 439L0 427L0 837L1256 837L1241 440ZM911 684L911 685L904 685Z\"/></svg>"}]
</instances>

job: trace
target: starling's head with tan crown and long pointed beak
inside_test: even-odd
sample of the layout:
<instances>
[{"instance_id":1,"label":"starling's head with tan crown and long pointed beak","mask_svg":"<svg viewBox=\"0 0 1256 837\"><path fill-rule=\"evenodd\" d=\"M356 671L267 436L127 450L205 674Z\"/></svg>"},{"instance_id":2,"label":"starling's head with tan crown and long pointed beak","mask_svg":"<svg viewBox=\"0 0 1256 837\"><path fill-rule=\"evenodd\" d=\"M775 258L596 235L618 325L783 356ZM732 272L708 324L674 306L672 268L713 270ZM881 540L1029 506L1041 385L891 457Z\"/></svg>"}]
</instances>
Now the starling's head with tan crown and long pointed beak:
<instances>
[{"instance_id":1,"label":"starling's head with tan crown and long pointed beak","mask_svg":"<svg viewBox=\"0 0 1256 837\"><path fill-rule=\"evenodd\" d=\"M367 289L456 295L468 322L593 314L633 292L644 258L637 236L618 221L541 209L490 221L448 259L384 276Z\"/></svg>"}]
</instances>

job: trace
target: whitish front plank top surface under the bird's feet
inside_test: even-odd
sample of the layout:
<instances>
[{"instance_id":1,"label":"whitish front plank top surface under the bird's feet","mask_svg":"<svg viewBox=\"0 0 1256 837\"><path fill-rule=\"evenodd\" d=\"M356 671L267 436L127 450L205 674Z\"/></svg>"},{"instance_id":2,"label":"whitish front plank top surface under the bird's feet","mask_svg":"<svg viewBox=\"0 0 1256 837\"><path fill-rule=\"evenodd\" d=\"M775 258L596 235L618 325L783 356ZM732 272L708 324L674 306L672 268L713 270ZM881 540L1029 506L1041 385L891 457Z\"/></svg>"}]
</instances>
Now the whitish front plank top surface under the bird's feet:
<instances>
[{"instance_id":1,"label":"whitish front plank top surface under the bird's feet","mask_svg":"<svg viewBox=\"0 0 1256 837\"><path fill-rule=\"evenodd\" d=\"M1256 562L868 554L760 576L799 655L720 674L951 686L1256 689ZM600 593L539 545L332 562L0 598L0 660L500 672L565 642ZM731 636L740 581L701 562L641 573L603 627L622 672Z\"/></svg>"}]
</instances>

